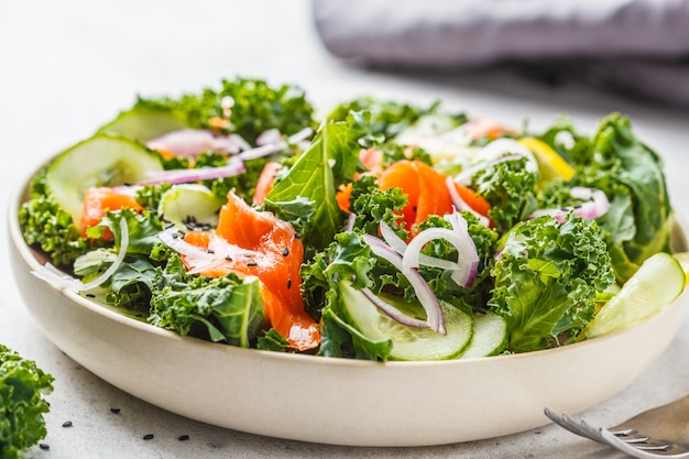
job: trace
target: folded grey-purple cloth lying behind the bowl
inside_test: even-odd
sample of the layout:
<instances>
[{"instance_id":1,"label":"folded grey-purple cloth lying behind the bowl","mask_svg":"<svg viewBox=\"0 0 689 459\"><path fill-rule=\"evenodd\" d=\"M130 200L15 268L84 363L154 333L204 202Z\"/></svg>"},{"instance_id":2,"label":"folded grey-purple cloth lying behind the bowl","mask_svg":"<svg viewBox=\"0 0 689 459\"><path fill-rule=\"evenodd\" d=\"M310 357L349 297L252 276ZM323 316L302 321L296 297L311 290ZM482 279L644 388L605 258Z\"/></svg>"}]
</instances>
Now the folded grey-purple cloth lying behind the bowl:
<instances>
[{"instance_id":1,"label":"folded grey-purple cloth lying behind the bowl","mask_svg":"<svg viewBox=\"0 0 689 459\"><path fill-rule=\"evenodd\" d=\"M379 67L504 63L689 105L689 0L313 0L333 55Z\"/></svg>"}]
</instances>

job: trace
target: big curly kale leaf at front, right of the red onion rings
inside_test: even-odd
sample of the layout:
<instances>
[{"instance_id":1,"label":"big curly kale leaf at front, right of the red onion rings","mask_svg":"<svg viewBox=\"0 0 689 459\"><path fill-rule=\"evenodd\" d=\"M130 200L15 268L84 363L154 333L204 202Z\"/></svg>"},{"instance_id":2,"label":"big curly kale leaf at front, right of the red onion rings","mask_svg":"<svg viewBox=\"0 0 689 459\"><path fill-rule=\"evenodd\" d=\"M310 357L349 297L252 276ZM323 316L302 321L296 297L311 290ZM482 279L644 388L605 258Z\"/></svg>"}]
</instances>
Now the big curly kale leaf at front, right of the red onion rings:
<instances>
[{"instance_id":1,"label":"big curly kale leaf at front, right of the red onion rings","mask_svg":"<svg viewBox=\"0 0 689 459\"><path fill-rule=\"evenodd\" d=\"M517 223L499 244L489 307L507 319L508 349L545 349L581 331L597 295L614 283L594 221L544 216Z\"/></svg>"}]
</instances>

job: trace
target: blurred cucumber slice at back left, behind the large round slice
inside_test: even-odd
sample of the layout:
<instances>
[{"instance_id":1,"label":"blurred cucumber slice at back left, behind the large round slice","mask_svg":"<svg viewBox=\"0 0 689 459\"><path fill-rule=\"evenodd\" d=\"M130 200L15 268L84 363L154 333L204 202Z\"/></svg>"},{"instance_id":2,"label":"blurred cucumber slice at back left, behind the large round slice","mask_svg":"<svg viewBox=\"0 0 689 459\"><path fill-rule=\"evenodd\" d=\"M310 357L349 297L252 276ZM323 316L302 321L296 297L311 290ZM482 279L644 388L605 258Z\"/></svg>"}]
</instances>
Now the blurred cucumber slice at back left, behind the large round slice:
<instances>
[{"instance_id":1,"label":"blurred cucumber slice at back left, behind the large round slice","mask_svg":"<svg viewBox=\"0 0 689 459\"><path fill-rule=\"evenodd\" d=\"M119 134L147 142L167 132L186 128L189 128L189 123L182 114L166 107L140 101L102 125L97 134Z\"/></svg>"}]
</instances>

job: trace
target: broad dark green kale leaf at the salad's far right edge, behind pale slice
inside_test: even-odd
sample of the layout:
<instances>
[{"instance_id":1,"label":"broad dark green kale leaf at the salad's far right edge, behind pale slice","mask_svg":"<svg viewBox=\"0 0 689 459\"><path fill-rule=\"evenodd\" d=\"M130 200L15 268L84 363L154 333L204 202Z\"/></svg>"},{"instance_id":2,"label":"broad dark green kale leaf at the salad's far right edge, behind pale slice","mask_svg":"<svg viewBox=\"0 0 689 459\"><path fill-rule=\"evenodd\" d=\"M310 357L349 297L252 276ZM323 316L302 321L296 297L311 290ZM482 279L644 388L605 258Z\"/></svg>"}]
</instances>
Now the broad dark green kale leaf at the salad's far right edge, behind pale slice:
<instances>
[{"instance_id":1,"label":"broad dark green kale leaf at the salad's far right edge, behind pale slice","mask_svg":"<svg viewBox=\"0 0 689 459\"><path fill-rule=\"evenodd\" d=\"M653 253L671 251L674 218L663 161L636 138L628 118L620 113L605 117L591 140L567 125L554 127L544 138L555 142L558 130L575 139L568 151L558 145L577 167L577 175L566 186L601 189L611 203L610 210L597 221L617 281L624 283Z\"/></svg>"}]
</instances>

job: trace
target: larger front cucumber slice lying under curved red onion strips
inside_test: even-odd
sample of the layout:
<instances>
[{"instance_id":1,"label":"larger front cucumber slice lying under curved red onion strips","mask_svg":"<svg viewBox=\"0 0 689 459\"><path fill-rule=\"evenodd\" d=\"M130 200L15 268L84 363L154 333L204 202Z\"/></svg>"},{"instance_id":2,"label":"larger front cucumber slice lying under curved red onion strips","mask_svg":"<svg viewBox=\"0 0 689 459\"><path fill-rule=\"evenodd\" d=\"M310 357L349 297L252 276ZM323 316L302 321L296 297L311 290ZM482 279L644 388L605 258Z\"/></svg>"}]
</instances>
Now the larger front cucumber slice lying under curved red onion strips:
<instances>
[{"instance_id":1,"label":"larger front cucumber slice lying under curved red onion strips","mask_svg":"<svg viewBox=\"0 0 689 459\"><path fill-rule=\"evenodd\" d=\"M471 341L472 317L451 305L440 303L447 329L446 335L440 335L427 328L406 327L393 320L349 282L340 282L339 289L350 324L373 341L390 339L390 357L393 360L455 359L461 356ZM409 315L423 317L424 309L420 305L397 302L395 306L404 308Z\"/></svg>"}]
</instances>

